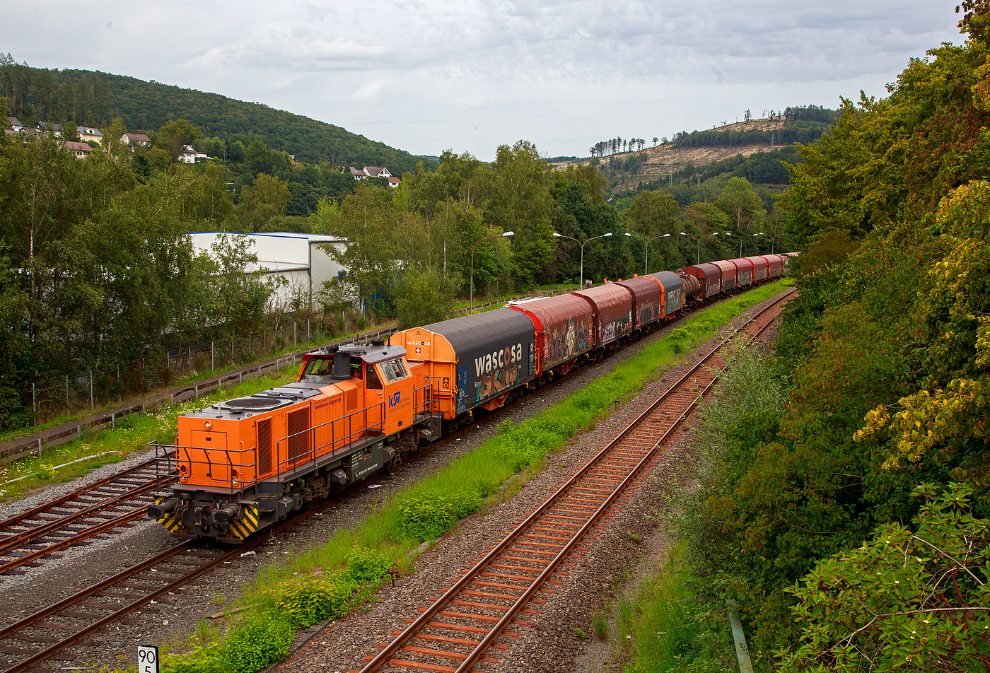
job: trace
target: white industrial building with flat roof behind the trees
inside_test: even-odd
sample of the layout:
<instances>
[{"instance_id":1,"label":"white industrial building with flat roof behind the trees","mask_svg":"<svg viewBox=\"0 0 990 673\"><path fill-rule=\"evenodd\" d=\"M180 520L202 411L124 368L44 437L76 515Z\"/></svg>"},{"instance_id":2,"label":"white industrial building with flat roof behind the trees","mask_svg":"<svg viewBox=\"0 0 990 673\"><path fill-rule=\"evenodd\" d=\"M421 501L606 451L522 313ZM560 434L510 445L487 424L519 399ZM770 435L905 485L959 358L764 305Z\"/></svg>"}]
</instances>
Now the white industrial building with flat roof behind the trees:
<instances>
[{"instance_id":1,"label":"white industrial building with flat roof behind the trees","mask_svg":"<svg viewBox=\"0 0 990 673\"><path fill-rule=\"evenodd\" d=\"M257 263L248 264L245 273L261 271L265 276L285 279L285 282L278 282L271 300L280 306L289 306L293 297L300 296L312 305L313 298L323 290L324 282L347 270L322 247L333 245L343 250L347 240L336 236L204 232L190 234L189 238L197 254L210 254L214 241L220 236L245 237L250 241L248 251L257 255Z\"/></svg>"}]
</instances>

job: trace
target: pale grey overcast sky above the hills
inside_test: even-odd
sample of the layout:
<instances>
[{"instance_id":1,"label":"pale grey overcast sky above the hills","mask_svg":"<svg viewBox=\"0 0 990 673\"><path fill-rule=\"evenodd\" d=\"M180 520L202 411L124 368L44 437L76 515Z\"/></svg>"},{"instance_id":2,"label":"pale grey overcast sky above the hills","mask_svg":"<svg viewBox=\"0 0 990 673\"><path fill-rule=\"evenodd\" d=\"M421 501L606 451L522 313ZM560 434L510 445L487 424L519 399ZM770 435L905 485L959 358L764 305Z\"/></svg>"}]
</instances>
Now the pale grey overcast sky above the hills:
<instances>
[{"instance_id":1,"label":"pale grey overcast sky above the hills","mask_svg":"<svg viewBox=\"0 0 990 673\"><path fill-rule=\"evenodd\" d=\"M944 0L54 0L4 3L0 50L210 91L411 151L490 160L670 137L885 95L959 44Z\"/></svg>"}]
</instances>

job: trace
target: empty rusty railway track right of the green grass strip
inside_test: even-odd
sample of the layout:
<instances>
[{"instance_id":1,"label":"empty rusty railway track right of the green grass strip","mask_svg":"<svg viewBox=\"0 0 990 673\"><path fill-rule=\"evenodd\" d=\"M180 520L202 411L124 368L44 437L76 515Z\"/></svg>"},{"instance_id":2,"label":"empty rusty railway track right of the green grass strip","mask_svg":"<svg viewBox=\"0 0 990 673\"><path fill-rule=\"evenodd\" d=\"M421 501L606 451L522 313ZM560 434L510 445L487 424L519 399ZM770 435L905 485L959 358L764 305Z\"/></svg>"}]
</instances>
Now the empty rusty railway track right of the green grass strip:
<instances>
[{"instance_id":1,"label":"empty rusty railway track right of the green grass strip","mask_svg":"<svg viewBox=\"0 0 990 673\"><path fill-rule=\"evenodd\" d=\"M753 316L713 348L629 427L591 458L518 528L490 548L473 568L462 571L444 595L419 617L393 631L391 642L365 657L350 673L389 667L436 673L487 670L498 663L497 650L508 649L526 615L536 614L558 579L566 576L603 517L657 457L661 446L680 432L698 401L727 368L726 351L745 332L756 338L779 314L791 293ZM478 668L475 668L478 666ZM494 670L494 669L493 669Z\"/></svg>"}]
</instances>

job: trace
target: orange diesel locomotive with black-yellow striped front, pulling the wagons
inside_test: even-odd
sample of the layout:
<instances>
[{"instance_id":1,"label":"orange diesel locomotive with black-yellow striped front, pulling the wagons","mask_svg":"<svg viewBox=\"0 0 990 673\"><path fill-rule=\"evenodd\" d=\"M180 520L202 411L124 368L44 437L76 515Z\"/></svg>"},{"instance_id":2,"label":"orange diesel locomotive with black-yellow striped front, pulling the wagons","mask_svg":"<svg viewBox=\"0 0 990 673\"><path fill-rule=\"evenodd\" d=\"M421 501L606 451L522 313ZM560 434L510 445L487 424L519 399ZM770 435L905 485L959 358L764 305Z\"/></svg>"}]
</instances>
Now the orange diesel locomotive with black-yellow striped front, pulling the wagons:
<instances>
[{"instance_id":1,"label":"orange diesel locomotive with black-yellow striped front, pulling the wagons","mask_svg":"<svg viewBox=\"0 0 990 673\"><path fill-rule=\"evenodd\" d=\"M175 444L154 444L164 482L148 515L240 542L394 465L440 438L422 370L381 341L332 346L304 355L294 383L179 417Z\"/></svg>"}]
</instances>

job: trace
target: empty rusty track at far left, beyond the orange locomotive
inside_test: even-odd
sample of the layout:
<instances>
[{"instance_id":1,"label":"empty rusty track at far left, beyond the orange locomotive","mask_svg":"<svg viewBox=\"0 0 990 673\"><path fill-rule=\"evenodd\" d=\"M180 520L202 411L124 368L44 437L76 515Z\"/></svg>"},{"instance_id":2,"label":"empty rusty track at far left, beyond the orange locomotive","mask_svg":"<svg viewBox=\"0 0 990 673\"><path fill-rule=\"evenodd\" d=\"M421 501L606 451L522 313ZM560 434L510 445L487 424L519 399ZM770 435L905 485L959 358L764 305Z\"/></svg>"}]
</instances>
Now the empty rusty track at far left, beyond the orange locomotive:
<instances>
[{"instance_id":1,"label":"empty rusty track at far left, beyond the orange locomotive","mask_svg":"<svg viewBox=\"0 0 990 673\"><path fill-rule=\"evenodd\" d=\"M61 549L132 525L154 488L148 460L0 522L0 577L25 574Z\"/></svg>"}]
</instances>

